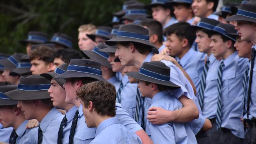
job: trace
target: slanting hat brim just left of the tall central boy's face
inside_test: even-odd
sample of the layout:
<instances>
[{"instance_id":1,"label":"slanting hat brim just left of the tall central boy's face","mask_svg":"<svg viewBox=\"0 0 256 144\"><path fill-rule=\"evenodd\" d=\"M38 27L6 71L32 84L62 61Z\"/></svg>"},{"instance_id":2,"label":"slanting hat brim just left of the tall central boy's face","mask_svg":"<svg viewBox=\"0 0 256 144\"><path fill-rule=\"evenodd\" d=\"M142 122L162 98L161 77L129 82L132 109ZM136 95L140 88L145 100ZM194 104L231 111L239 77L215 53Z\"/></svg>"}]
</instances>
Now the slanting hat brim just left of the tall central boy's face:
<instances>
[{"instance_id":1,"label":"slanting hat brim just left of the tall central boy's face","mask_svg":"<svg viewBox=\"0 0 256 144\"><path fill-rule=\"evenodd\" d=\"M91 50L83 50L83 53L85 55L87 55L88 57L90 57L91 60L98 61L102 65L107 66L108 68L112 68L112 66L108 62L108 59L96 54L95 52L93 52Z\"/></svg>"}]
</instances>

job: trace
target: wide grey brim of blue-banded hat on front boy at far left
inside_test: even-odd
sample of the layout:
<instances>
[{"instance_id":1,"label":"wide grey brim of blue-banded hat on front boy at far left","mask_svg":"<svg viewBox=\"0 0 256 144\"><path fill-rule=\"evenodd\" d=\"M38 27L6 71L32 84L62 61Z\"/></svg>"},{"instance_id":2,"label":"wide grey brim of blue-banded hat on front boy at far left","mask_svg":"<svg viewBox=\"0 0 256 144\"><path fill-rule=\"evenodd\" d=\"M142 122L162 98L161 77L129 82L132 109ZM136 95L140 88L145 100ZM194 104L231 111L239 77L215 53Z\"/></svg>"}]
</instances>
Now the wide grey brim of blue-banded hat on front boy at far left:
<instances>
[{"instance_id":1,"label":"wide grey brim of blue-banded hat on front boy at far left","mask_svg":"<svg viewBox=\"0 0 256 144\"><path fill-rule=\"evenodd\" d=\"M26 91L26 90L11 90L6 92L11 100L41 100L51 98L48 90L39 90L39 91Z\"/></svg>"}]
</instances>

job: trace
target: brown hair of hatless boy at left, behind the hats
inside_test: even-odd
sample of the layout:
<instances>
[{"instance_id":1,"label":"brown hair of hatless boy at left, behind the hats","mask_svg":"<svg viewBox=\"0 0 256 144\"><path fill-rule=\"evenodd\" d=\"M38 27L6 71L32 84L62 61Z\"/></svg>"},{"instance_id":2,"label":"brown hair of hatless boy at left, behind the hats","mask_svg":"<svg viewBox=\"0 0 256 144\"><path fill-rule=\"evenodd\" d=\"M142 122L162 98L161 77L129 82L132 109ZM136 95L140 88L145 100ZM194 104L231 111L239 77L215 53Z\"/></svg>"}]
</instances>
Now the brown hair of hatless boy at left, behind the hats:
<instances>
[{"instance_id":1,"label":"brown hair of hatless boy at left, behind the hats","mask_svg":"<svg viewBox=\"0 0 256 144\"><path fill-rule=\"evenodd\" d=\"M54 56L53 56L52 48L48 46L38 46L37 48L31 50L30 52L30 61L34 59L42 60L45 63L53 63Z\"/></svg>"}]
</instances>

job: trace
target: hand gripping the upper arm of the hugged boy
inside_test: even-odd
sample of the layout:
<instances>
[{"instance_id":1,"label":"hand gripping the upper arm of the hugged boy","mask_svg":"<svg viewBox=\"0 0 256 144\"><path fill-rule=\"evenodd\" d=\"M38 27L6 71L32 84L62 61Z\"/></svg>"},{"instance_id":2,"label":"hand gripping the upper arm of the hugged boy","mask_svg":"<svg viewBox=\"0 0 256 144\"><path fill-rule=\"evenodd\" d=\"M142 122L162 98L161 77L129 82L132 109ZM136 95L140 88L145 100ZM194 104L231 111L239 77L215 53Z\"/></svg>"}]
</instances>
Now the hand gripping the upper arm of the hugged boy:
<instances>
[{"instance_id":1,"label":"hand gripping the upper arm of the hugged boy","mask_svg":"<svg viewBox=\"0 0 256 144\"><path fill-rule=\"evenodd\" d=\"M172 111L167 111L160 107L151 107L148 109L147 119L154 125L166 124L169 122L170 113Z\"/></svg>"}]
</instances>

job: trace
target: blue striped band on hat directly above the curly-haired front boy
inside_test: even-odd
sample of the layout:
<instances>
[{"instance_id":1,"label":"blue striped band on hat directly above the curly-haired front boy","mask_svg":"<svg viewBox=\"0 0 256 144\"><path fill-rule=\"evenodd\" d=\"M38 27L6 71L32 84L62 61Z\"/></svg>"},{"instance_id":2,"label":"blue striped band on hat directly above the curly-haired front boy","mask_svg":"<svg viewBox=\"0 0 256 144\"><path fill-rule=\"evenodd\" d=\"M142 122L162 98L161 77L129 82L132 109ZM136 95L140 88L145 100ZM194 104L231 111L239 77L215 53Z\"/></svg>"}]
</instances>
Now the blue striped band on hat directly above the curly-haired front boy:
<instances>
[{"instance_id":1,"label":"blue striped band on hat directly above the curly-haired front boy","mask_svg":"<svg viewBox=\"0 0 256 144\"><path fill-rule=\"evenodd\" d=\"M88 74L95 74L102 76L102 71L96 68L91 68L87 66L69 65L67 71L83 72Z\"/></svg>"}]
</instances>

